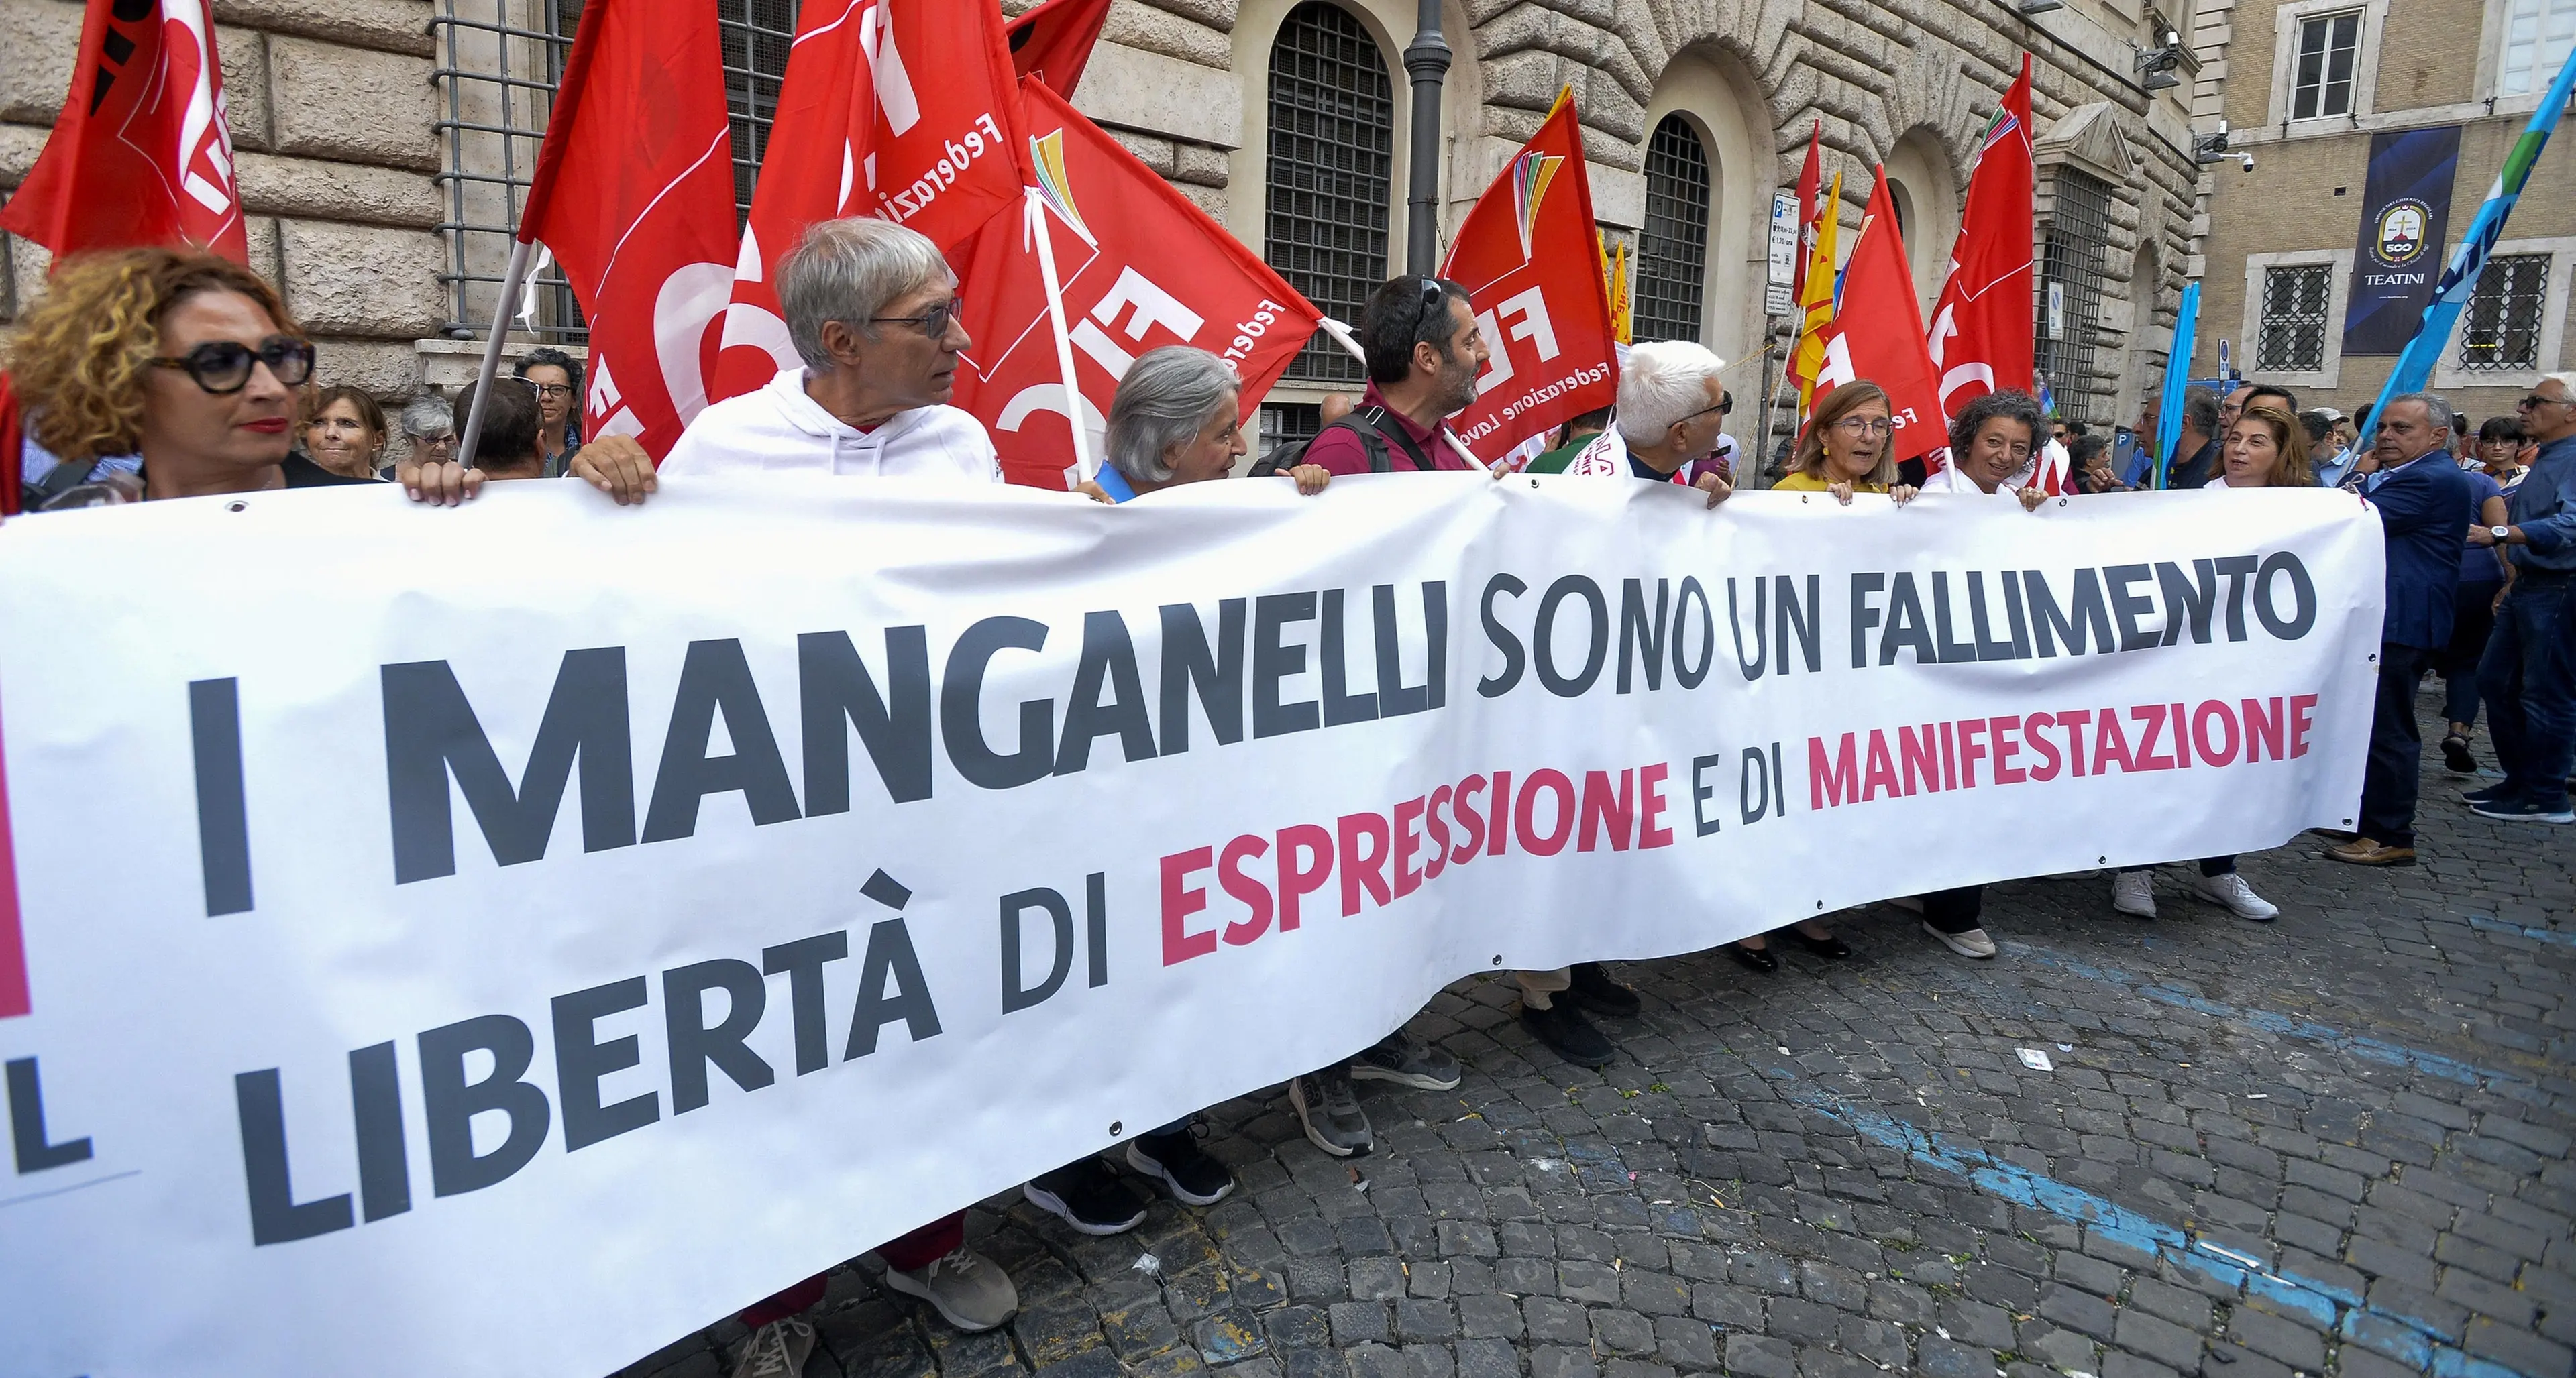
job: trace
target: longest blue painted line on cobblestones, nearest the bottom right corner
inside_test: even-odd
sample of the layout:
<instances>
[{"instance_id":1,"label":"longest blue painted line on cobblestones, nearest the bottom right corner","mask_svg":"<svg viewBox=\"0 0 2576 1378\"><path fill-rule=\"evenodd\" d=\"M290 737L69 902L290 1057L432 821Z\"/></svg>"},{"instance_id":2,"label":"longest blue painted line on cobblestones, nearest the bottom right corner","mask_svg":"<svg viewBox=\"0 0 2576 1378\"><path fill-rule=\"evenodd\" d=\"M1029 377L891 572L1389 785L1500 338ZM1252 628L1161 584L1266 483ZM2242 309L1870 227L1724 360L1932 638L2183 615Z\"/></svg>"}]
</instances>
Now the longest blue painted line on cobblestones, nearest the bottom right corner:
<instances>
[{"instance_id":1,"label":"longest blue painted line on cobblestones, nearest the bottom right corner","mask_svg":"<svg viewBox=\"0 0 2576 1378\"><path fill-rule=\"evenodd\" d=\"M2372 1306L2334 1283L2321 1283L2298 1272L2275 1272L2251 1254L2241 1254L2226 1244L2213 1244L2192 1231L2105 1200L2084 1187L2074 1187L2069 1182L2058 1182L2056 1177L2030 1172L2014 1162L2004 1162L1976 1144L1947 1133L1929 1133L1899 1120L1896 1115L1850 1105L1821 1087L1801 1082L1798 1074L1785 1066L1767 1066L1762 1071L1775 1082L1785 1082L1785 1095L1798 1105L1850 1126L1873 1144L1896 1149L1919 1164L1965 1177L1968 1182L1976 1182L2014 1205L2030 1205L2048 1211L2050 1216L2076 1221L2110 1241L2138 1249L2141 1254L2156 1254L2174 1267L2192 1270L2221 1283L2223 1288L2244 1290L2246 1296L2262 1298L2275 1308L2308 1316L2321 1329L2342 1334L2347 1342L2362 1345L2365 1350L2388 1355L2416 1373L2432 1373L2434 1378L2517 1378L2512 1368L2463 1352L2450 1334L2432 1321Z\"/></svg>"}]
</instances>

